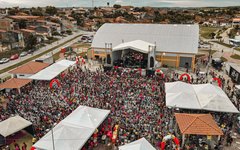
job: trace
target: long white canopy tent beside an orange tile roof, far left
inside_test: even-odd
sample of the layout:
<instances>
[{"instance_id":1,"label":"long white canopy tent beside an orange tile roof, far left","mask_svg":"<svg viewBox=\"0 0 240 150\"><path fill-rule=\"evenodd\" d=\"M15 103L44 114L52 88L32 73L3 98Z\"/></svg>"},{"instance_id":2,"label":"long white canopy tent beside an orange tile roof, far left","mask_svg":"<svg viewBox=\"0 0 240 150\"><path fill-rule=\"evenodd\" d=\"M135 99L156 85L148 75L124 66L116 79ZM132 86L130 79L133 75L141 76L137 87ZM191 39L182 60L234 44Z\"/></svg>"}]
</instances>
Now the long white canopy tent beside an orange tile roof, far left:
<instances>
[{"instance_id":1,"label":"long white canopy tent beside an orange tile roof, far left","mask_svg":"<svg viewBox=\"0 0 240 150\"><path fill-rule=\"evenodd\" d=\"M52 64L51 66L41 70L35 75L30 76L30 79L34 80L52 80L56 76L58 76L61 72L66 70L68 67L74 65L74 61L69 60L61 60Z\"/></svg>"}]
</instances>

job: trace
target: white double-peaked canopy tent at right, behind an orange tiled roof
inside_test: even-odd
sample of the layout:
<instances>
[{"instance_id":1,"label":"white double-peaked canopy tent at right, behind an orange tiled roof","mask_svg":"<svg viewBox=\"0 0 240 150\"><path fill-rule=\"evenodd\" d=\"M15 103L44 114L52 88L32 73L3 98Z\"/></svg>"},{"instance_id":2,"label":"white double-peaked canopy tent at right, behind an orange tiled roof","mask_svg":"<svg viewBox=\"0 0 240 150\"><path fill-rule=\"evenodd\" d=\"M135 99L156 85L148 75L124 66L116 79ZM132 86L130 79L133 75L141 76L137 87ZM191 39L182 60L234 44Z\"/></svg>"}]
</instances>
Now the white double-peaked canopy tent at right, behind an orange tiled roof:
<instances>
[{"instance_id":1,"label":"white double-peaked canopy tent at right, behind an orange tiled roof","mask_svg":"<svg viewBox=\"0 0 240 150\"><path fill-rule=\"evenodd\" d=\"M166 83L166 105L183 109L201 109L239 113L224 91L212 84Z\"/></svg>"}]
</instances>

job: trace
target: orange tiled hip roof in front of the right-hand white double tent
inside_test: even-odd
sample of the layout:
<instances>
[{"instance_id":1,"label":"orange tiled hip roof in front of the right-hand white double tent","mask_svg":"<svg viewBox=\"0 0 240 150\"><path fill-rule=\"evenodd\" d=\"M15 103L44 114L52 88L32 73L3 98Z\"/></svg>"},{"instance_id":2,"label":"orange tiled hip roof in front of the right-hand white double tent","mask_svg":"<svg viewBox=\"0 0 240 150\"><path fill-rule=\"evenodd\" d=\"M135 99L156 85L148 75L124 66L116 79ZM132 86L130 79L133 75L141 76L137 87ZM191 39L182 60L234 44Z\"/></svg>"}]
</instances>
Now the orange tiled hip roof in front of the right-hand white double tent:
<instances>
[{"instance_id":1,"label":"orange tiled hip roof in front of the right-hand white double tent","mask_svg":"<svg viewBox=\"0 0 240 150\"><path fill-rule=\"evenodd\" d=\"M223 135L210 114L175 113L182 134Z\"/></svg>"}]
</instances>

